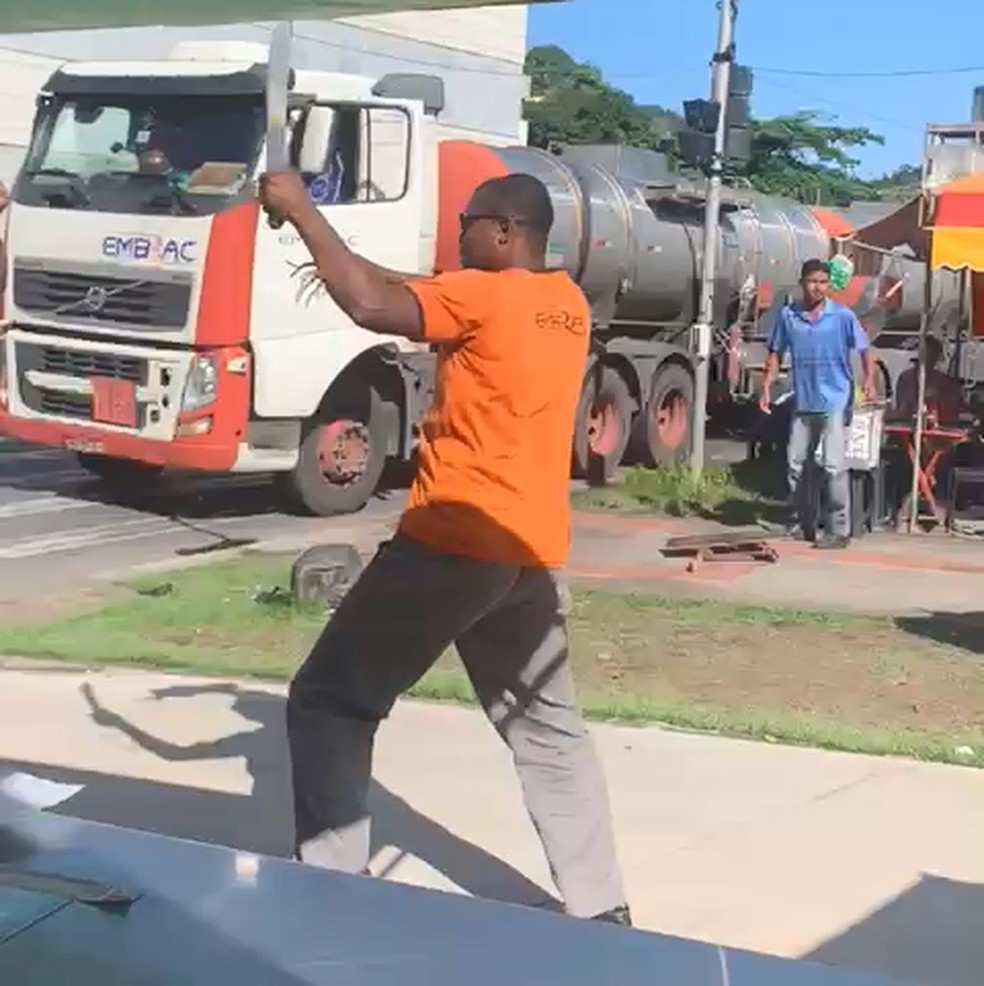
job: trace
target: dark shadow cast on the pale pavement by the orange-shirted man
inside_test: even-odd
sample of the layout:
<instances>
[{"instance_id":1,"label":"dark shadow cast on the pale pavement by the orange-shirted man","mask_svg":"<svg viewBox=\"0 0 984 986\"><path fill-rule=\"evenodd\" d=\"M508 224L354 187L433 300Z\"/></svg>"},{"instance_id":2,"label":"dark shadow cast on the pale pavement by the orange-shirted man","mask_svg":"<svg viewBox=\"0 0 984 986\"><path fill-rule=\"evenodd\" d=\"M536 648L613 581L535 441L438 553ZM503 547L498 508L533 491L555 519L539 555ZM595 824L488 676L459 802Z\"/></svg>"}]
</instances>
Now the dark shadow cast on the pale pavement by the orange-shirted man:
<instances>
[{"instance_id":1,"label":"dark shadow cast on the pale pavement by the orange-shirted man","mask_svg":"<svg viewBox=\"0 0 984 986\"><path fill-rule=\"evenodd\" d=\"M207 694L231 696L234 711L256 728L215 741L182 746L146 733L103 707L91 689L85 690L94 722L118 730L162 760L192 762L242 757L253 779L249 796L67 770L54 765L6 763L2 767L84 784L84 790L61 807L66 815L267 855L289 856L293 820L284 700L267 692L224 683L174 686L151 693L159 700ZM476 897L558 906L546 890L508 863L449 832L379 783L373 784L371 807L374 854L384 846L394 846L402 854L424 861Z\"/></svg>"}]
</instances>

